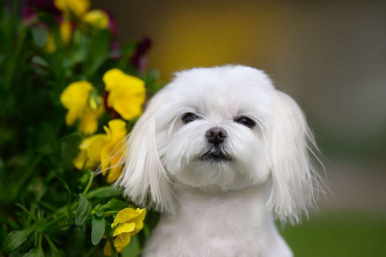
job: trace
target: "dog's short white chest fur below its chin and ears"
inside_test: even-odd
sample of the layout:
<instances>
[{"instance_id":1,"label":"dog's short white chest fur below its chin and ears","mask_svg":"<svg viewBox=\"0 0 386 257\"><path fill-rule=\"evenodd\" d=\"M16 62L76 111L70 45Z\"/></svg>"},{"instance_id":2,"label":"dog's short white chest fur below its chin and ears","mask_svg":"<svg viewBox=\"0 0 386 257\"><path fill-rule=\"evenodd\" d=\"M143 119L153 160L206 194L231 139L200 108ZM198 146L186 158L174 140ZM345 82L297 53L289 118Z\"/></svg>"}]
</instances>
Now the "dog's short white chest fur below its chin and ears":
<instances>
[{"instance_id":1,"label":"dog's short white chest fur below its chin and ears","mask_svg":"<svg viewBox=\"0 0 386 257\"><path fill-rule=\"evenodd\" d=\"M177 212L165 214L147 244L146 257L291 257L263 189L202 192L175 188Z\"/></svg>"}]
</instances>

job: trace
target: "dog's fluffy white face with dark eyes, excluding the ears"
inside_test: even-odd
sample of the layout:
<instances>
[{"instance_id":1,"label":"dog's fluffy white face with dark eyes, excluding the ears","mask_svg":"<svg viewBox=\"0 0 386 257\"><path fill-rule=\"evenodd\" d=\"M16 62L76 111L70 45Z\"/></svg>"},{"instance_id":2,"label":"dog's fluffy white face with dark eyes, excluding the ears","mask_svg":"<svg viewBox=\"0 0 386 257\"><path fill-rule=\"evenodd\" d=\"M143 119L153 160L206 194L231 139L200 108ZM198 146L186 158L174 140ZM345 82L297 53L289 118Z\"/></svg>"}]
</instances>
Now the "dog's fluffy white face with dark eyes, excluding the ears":
<instances>
[{"instance_id":1,"label":"dog's fluffy white face with dark eyes, excluding the ears","mask_svg":"<svg viewBox=\"0 0 386 257\"><path fill-rule=\"evenodd\" d=\"M227 190L265 181L272 90L264 73L247 67L180 73L161 93L156 134L176 183Z\"/></svg>"}]
</instances>

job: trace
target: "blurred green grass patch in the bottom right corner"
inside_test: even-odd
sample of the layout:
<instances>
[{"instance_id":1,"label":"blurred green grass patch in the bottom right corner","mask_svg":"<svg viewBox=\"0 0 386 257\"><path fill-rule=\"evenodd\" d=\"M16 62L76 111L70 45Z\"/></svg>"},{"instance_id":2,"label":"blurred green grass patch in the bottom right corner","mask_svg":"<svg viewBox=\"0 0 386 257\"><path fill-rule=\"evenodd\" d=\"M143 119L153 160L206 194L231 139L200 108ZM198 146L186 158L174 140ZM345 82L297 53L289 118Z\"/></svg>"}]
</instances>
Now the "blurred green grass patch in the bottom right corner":
<instances>
[{"instance_id":1,"label":"blurred green grass patch in the bottom right corner","mask_svg":"<svg viewBox=\"0 0 386 257\"><path fill-rule=\"evenodd\" d=\"M295 257L386 256L386 215L324 213L281 234Z\"/></svg>"}]
</instances>

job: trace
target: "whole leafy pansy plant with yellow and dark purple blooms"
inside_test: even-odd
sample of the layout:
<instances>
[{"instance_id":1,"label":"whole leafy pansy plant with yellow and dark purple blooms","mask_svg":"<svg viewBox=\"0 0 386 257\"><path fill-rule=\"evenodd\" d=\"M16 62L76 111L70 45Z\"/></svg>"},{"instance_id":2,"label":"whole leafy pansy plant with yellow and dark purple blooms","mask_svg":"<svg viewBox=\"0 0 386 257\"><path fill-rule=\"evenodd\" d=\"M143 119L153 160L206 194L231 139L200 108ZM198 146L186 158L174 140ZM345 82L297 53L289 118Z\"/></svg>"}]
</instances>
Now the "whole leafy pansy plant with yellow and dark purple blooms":
<instances>
[{"instance_id":1,"label":"whole leafy pansy plant with yellow and dark purple blooms","mask_svg":"<svg viewBox=\"0 0 386 257\"><path fill-rule=\"evenodd\" d=\"M90 8L26 0L19 18L0 0L0 256L137 256L157 222L111 185L161 87L150 41L121 46Z\"/></svg>"}]
</instances>

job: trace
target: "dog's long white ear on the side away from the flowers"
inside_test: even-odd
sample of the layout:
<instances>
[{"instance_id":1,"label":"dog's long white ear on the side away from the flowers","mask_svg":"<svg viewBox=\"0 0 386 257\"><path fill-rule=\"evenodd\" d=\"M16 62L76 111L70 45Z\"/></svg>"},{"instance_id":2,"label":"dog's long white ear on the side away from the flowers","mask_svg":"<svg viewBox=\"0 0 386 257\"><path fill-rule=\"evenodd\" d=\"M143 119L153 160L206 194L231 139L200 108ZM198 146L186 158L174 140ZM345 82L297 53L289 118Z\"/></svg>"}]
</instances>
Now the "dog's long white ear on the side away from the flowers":
<instances>
[{"instance_id":1,"label":"dog's long white ear on the side away from the flowers","mask_svg":"<svg viewBox=\"0 0 386 257\"><path fill-rule=\"evenodd\" d=\"M307 208L314 206L321 181L310 156L316 157L317 147L296 102L277 90L273 98L275 116L268 139L272 191L267 204L280 220L299 222L301 212L308 215Z\"/></svg>"}]
</instances>

